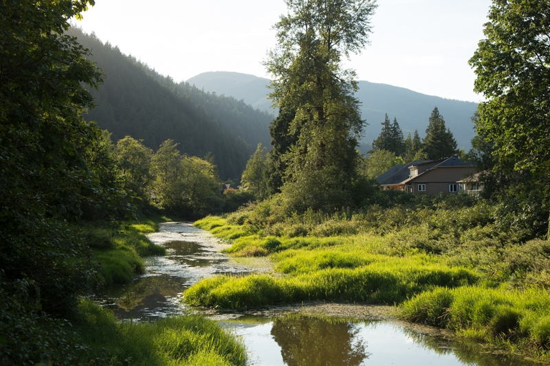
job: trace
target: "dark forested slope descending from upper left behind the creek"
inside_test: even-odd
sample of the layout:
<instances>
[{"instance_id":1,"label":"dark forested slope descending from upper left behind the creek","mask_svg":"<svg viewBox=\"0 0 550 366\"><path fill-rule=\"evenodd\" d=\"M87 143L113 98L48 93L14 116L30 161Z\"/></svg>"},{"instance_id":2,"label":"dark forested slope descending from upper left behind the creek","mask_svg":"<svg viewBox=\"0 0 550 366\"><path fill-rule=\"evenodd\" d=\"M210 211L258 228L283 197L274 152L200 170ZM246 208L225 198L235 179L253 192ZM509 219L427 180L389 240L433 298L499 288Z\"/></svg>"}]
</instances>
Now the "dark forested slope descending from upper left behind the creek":
<instances>
[{"instance_id":1,"label":"dark forested slope descending from upper left behind the creek","mask_svg":"<svg viewBox=\"0 0 550 366\"><path fill-rule=\"evenodd\" d=\"M69 34L91 50L103 70L103 84L92 90L96 108L85 118L112 133L113 141L129 135L156 150L166 139L182 153L214 157L222 179L239 179L259 142L269 144L272 115L230 97L176 84L118 47L71 28Z\"/></svg>"}]
</instances>

